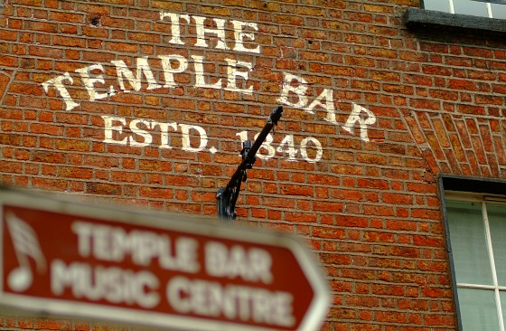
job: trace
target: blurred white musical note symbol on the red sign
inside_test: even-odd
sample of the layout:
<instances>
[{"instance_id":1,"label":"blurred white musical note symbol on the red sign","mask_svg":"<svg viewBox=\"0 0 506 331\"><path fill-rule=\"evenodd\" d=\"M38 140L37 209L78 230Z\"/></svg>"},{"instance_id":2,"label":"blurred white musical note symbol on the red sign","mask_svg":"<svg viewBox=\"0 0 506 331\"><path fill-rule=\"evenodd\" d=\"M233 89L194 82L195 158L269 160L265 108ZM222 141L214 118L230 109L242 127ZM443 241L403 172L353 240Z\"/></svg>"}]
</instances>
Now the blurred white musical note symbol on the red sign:
<instances>
[{"instance_id":1,"label":"blurred white musical note symbol on the red sign","mask_svg":"<svg viewBox=\"0 0 506 331\"><path fill-rule=\"evenodd\" d=\"M13 240L14 252L19 262L19 267L11 271L7 284L16 292L22 292L29 288L33 282L33 272L28 257L35 260L39 273L46 270L46 260L42 254L41 245L33 229L14 213L5 215L7 227Z\"/></svg>"}]
</instances>

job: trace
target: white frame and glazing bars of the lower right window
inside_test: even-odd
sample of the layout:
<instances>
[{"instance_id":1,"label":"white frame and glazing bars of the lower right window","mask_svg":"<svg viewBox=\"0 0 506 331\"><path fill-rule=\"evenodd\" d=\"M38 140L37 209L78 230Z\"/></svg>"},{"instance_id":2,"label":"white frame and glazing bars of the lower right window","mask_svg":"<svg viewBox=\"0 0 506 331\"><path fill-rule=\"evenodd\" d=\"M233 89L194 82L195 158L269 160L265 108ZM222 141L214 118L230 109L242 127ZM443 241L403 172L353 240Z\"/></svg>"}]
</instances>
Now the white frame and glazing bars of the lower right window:
<instances>
[{"instance_id":1,"label":"white frame and glazing bars of the lower right window","mask_svg":"<svg viewBox=\"0 0 506 331\"><path fill-rule=\"evenodd\" d=\"M466 284L466 283L456 283L457 288L473 288L473 289L489 289L494 291L495 298L495 307L497 310L497 317L499 319L499 331L506 331L504 326L504 320L502 318L502 310L501 307L501 296L500 292L506 292L506 287L500 286L499 281L497 279L497 271L495 267L495 260L493 257L493 248L492 248L492 237L489 226L489 219L487 213L487 205L486 203L495 203L495 204L504 204L506 205L506 197L496 196L496 195L483 195L483 194L472 194L472 193L463 193L463 192L452 192L445 191L445 202L454 201L454 202L473 202L473 203L481 203L482 204L482 219L483 225L485 228L485 241L487 245L487 252L489 254L491 270L492 270L492 285L480 285L480 284ZM446 213L446 211L445 211ZM450 233L450 242L451 242ZM453 259L453 257L452 257ZM454 270L453 270L454 272ZM457 293L455 292L455 296ZM460 307L457 307L460 311ZM506 310L506 307L504 307ZM459 313L460 314L460 313Z\"/></svg>"}]
</instances>

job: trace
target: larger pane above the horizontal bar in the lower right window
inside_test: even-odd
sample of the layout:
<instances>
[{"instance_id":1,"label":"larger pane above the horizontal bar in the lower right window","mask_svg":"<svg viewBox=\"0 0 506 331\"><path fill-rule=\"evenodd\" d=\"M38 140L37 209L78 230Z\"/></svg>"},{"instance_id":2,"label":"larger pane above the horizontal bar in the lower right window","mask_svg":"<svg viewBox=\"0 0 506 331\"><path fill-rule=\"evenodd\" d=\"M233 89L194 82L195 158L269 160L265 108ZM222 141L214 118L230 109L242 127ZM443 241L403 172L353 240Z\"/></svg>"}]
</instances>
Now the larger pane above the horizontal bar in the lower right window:
<instances>
[{"instance_id":1,"label":"larger pane above the horizontal bar in the lower right window","mask_svg":"<svg viewBox=\"0 0 506 331\"><path fill-rule=\"evenodd\" d=\"M481 203L447 202L457 283L492 285Z\"/></svg>"}]
</instances>

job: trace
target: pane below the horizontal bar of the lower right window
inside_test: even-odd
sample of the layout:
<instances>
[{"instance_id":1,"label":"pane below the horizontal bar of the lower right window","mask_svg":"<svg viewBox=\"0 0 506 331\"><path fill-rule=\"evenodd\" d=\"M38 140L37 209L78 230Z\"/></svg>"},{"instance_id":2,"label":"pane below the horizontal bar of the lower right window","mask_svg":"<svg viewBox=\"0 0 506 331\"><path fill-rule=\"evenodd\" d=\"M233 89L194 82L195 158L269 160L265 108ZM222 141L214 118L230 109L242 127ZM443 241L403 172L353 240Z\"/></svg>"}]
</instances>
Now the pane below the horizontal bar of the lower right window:
<instances>
[{"instance_id":1,"label":"pane below the horizontal bar of the lower right window","mask_svg":"<svg viewBox=\"0 0 506 331\"><path fill-rule=\"evenodd\" d=\"M492 289L458 288L464 331L497 331L499 318Z\"/></svg>"}]
</instances>

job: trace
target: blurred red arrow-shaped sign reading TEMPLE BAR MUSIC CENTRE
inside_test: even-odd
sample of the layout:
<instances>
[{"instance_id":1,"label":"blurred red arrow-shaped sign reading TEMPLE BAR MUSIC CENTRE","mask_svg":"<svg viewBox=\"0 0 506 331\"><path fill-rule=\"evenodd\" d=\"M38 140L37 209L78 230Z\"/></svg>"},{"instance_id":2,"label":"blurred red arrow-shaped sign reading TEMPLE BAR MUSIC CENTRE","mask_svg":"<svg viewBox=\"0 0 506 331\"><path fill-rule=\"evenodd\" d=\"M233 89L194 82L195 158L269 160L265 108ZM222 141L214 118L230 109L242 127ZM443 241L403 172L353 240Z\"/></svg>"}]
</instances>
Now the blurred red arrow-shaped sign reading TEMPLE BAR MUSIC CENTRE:
<instances>
[{"instance_id":1,"label":"blurred red arrow-shaped sign reading TEMPLE BAR MUSIC CENTRE","mask_svg":"<svg viewBox=\"0 0 506 331\"><path fill-rule=\"evenodd\" d=\"M0 305L191 330L316 330L330 292L299 241L0 190Z\"/></svg>"}]
</instances>

